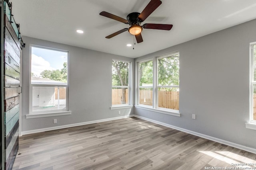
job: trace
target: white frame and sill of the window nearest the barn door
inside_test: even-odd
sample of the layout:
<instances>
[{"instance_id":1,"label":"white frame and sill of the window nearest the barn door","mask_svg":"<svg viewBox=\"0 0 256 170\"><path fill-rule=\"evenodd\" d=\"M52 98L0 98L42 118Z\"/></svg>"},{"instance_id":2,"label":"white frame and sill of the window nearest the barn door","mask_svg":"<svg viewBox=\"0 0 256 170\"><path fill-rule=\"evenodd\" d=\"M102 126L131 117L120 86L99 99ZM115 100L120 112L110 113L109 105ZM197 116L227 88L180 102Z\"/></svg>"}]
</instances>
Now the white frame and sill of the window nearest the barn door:
<instances>
[{"instance_id":1,"label":"white frame and sill of the window nearest the barn door","mask_svg":"<svg viewBox=\"0 0 256 170\"><path fill-rule=\"evenodd\" d=\"M32 83L31 76L29 78L29 113L26 115L26 119L39 118L39 117L51 117L59 115L70 115L71 111L68 110L68 86L69 86L69 52L66 50L55 49L50 47L44 47L40 45L30 45L30 75L31 75L31 60L32 60L32 47L48 49L54 51L61 51L67 53L67 83ZM49 111L32 111L32 89L33 87L66 87L66 108L58 110L49 110Z\"/></svg>"}]
</instances>

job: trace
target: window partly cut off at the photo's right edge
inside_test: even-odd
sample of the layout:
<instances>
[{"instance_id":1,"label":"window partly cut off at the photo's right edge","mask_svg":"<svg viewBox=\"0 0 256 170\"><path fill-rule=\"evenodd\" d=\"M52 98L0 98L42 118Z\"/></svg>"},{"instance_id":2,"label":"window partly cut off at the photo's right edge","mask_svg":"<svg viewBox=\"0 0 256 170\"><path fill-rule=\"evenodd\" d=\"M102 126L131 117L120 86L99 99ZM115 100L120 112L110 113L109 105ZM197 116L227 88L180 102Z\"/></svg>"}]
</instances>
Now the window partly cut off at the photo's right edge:
<instances>
[{"instance_id":1,"label":"window partly cut off at the photo's right edge","mask_svg":"<svg viewBox=\"0 0 256 170\"><path fill-rule=\"evenodd\" d=\"M251 44L251 63L250 121L256 123L256 43Z\"/></svg>"}]
</instances>

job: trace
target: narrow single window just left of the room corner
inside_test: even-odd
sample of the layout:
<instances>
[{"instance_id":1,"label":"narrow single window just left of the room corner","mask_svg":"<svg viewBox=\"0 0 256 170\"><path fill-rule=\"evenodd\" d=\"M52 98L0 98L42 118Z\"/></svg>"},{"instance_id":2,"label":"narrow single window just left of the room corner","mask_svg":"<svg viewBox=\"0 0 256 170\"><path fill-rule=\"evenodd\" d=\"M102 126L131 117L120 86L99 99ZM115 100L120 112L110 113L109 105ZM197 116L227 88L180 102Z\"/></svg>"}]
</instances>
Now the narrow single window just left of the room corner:
<instances>
[{"instance_id":1,"label":"narrow single window just left of the room corner","mask_svg":"<svg viewBox=\"0 0 256 170\"><path fill-rule=\"evenodd\" d=\"M112 61L112 106L128 105L130 96L130 63Z\"/></svg>"}]
</instances>

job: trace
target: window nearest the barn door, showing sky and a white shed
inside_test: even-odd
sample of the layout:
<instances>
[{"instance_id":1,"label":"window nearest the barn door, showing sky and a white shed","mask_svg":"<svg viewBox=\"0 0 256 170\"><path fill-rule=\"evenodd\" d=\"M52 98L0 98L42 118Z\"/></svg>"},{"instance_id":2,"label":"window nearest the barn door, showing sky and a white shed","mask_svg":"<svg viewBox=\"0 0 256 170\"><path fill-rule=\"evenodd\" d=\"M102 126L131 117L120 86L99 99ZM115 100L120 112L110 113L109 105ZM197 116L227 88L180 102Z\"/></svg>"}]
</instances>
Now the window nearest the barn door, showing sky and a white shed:
<instances>
[{"instance_id":1,"label":"window nearest the barn door, showing sky and a white shed","mask_svg":"<svg viewBox=\"0 0 256 170\"><path fill-rule=\"evenodd\" d=\"M68 52L31 47L30 114L68 111Z\"/></svg>"}]
</instances>

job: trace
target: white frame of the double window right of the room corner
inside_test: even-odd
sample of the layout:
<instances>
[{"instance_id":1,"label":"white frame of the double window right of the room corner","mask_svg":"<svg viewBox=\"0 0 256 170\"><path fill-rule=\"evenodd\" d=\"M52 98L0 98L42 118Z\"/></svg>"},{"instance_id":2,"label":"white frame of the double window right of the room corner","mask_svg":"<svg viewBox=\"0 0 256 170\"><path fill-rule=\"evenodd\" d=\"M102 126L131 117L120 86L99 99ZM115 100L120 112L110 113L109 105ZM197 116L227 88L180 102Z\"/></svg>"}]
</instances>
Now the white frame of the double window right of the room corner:
<instances>
[{"instance_id":1,"label":"white frame of the double window right of the room corner","mask_svg":"<svg viewBox=\"0 0 256 170\"><path fill-rule=\"evenodd\" d=\"M167 115L174 115L174 116L178 116L180 117L180 112L179 110L174 110L174 109L167 109L167 108L162 108L162 107L158 107L158 88L173 88L173 87L179 87L179 86L159 86L158 85L158 59L159 58L164 58L164 57L168 57L168 56L171 56L171 55L175 55L175 54L178 54L180 53L180 51L175 51L175 52L172 52L172 53L168 53L166 55L161 55L161 56L158 56L158 57L153 57L151 59L148 59L148 60L143 60L143 61L139 61L138 62L138 67L137 67L137 102L136 102L136 105L135 107L136 108L140 108L140 109L145 109L145 110L148 110L148 111L154 111L154 112L157 112L157 113L162 113L162 114L167 114ZM147 105L143 105L143 104L140 104L139 103L139 100L140 100L140 96L139 96L139 93L140 93L140 88L146 88L145 86L139 86L139 67L140 67L140 63L144 63L144 62L148 62L148 61L153 61L153 96L152 96L152 106L147 106ZM148 87L148 88L151 88L151 87Z\"/></svg>"}]
</instances>

